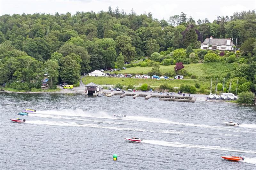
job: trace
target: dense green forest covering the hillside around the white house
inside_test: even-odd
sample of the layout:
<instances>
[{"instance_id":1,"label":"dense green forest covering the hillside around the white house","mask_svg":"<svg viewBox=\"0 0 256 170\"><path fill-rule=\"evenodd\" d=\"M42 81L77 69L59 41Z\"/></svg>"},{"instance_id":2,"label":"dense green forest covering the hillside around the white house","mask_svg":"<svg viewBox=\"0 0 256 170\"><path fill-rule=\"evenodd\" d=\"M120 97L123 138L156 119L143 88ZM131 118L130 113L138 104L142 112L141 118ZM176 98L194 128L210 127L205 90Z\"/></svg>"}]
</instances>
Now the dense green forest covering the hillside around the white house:
<instances>
[{"instance_id":1,"label":"dense green forest covering the hillside around the white house","mask_svg":"<svg viewBox=\"0 0 256 170\"><path fill-rule=\"evenodd\" d=\"M241 50L236 54L200 50L210 36L237 39ZM212 23L207 18L195 21L184 12L159 21L151 12L138 15L132 9L126 14L110 6L107 12L75 15L6 14L0 16L0 83L19 89L40 88L48 73L56 88L58 82L78 83L81 73L119 68L124 62L144 61L148 56L162 65L235 62L239 75L234 76L245 77L255 91L255 38L255 11L218 16Z\"/></svg>"}]
</instances>

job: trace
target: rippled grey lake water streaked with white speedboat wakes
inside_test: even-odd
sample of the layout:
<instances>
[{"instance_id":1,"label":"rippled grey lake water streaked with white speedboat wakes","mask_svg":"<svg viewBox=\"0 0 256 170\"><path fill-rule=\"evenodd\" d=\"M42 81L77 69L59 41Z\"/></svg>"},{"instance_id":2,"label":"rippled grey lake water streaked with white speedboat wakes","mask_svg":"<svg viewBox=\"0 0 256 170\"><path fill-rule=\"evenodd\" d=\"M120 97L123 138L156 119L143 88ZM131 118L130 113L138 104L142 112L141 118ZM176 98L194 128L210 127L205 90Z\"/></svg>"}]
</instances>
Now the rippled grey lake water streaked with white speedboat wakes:
<instances>
[{"instance_id":1,"label":"rippled grey lake water streaked with white speedboat wakes","mask_svg":"<svg viewBox=\"0 0 256 170\"><path fill-rule=\"evenodd\" d=\"M2 92L0 106L3 170L256 168L255 106ZM18 116L25 108L36 113ZM26 122L9 120L18 117ZM124 137L144 140L133 143ZM245 159L234 162L221 155Z\"/></svg>"}]
</instances>

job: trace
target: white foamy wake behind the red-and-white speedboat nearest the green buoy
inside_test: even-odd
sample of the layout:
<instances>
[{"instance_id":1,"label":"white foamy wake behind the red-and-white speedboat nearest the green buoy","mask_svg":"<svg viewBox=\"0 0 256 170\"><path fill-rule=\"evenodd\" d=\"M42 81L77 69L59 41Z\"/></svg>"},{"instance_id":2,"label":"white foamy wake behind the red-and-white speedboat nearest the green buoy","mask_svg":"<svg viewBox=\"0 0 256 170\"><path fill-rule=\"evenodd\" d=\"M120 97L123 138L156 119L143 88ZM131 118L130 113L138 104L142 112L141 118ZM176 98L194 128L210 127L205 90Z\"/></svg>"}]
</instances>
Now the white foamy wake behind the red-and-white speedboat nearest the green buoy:
<instances>
[{"instance_id":1,"label":"white foamy wake behind the red-and-white speedboat nearest the green buoy","mask_svg":"<svg viewBox=\"0 0 256 170\"><path fill-rule=\"evenodd\" d=\"M141 143L149 143L162 146L181 147L181 148L196 148L203 150L218 150L218 151L232 151L241 153L256 153L255 151L236 150L235 148L221 148L220 146L204 146L204 145L193 145L183 144L179 142L167 142L167 141L156 141L156 140L143 140Z\"/></svg>"}]
</instances>

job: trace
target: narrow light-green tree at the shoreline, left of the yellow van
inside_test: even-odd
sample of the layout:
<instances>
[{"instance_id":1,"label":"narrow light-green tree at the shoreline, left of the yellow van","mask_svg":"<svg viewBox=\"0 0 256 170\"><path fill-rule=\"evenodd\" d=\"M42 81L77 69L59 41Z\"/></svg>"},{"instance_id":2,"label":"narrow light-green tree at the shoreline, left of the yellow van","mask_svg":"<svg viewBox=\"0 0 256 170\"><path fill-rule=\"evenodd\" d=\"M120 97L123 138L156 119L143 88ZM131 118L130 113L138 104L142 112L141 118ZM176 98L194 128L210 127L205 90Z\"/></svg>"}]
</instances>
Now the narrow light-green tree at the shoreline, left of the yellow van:
<instances>
[{"instance_id":1,"label":"narrow light-green tree at the shoreline, left of the yellow van","mask_svg":"<svg viewBox=\"0 0 256 170\"><path fill-rule=\"evenodd\" d=\"M49 73L50 81L51 81L51 88L56 89L56 82L59 77L59 69L60 66L58 65L57 60L49 59L44 63L45 71Z\"/></svg>"}]
</instances>

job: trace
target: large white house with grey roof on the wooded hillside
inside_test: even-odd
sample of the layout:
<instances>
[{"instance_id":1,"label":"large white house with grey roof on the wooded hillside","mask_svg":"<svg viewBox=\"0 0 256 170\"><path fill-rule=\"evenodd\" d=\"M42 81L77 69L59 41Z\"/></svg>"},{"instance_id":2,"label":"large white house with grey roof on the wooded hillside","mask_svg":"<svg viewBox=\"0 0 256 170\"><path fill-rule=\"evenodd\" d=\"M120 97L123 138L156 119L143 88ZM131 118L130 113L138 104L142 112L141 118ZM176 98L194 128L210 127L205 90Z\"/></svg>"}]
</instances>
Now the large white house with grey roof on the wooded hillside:
<instances>
[{"instance_id":1,"label":"large white house with grey roof on the wooded hillside","mask_svg":"<svg viewBox=\"0 0 256 170\"><path fill-rule=\"evenodd\" d=\"M201 44L201 49L206 50L234 50L235 44L232 43L230 38L206 38Z\"/></svg>"}]
</instances>

